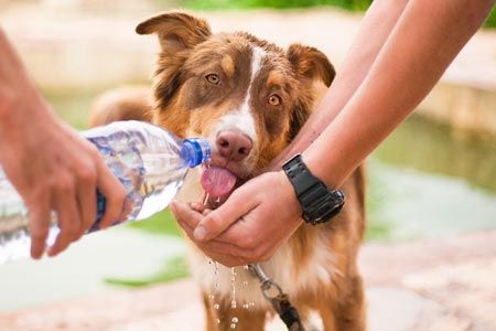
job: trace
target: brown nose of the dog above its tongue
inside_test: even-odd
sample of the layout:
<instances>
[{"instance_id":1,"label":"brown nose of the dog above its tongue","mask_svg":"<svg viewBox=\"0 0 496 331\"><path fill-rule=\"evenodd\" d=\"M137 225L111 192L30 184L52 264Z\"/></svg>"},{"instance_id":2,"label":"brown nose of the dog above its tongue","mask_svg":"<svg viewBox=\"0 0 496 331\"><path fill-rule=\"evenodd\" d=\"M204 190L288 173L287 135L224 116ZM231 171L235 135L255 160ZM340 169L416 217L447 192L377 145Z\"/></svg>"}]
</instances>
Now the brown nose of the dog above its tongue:
<instances>
[{"instance_id":1,"label":"brown nose of the dog above its tongue","mask_svg":"<svg viewBox=\"0 0 496 331\"><path fill-rule=\"evenodd\" d=\"M247 135L233 130L218 134L216 145L223 158L235 162L248 157L254 147L254 142Z\"/></svg>"}]
</instances>

